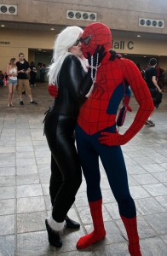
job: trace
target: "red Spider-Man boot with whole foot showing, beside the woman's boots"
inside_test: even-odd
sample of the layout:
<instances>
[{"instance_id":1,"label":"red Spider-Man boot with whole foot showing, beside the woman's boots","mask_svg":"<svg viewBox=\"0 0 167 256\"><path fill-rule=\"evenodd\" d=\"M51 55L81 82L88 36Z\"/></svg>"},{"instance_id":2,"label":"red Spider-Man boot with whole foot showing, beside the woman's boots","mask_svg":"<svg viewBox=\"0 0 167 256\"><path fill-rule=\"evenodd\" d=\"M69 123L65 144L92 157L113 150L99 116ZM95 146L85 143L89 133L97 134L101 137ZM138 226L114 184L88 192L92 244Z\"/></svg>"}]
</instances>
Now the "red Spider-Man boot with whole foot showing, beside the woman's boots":
<instances>
[{"instance_id":1,"label":"red Spider-Man boot with whole foot showing, beside the woman's boots","mask_svg":"<svg viewBox=\"0 0 167 256\"><path fill-rule=\"evenodd\" d=\"M86 236L81 237L77 242L77 248L83 249L91 246L97 241L100 241L106 236L102 218L102 199L89 202L91 216L93 218L94 231Z\"/></svg>"}]
</instances>

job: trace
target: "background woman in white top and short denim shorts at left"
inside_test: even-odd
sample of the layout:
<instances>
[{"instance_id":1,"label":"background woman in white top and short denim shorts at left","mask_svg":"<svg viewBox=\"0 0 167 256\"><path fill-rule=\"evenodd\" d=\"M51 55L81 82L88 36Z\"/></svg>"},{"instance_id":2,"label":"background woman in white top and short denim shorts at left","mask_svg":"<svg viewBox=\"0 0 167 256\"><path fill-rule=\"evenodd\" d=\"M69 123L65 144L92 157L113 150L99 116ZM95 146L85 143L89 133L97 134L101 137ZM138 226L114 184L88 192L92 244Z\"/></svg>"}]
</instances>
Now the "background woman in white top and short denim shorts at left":
<instances>
[{"instance_id":1,"label":"background woman in white top and short denim shorts at left","mask_svg":"<svg viewBox=\"0 0 167 256\"><path fill-rule=\"evenodd\" d=\"M15 58L10 59L9 65L7 66L7 74L9 76L9 96L7 107L14 107L14 91L17 85L17 60Z\"/></svg>"}]
</instances>

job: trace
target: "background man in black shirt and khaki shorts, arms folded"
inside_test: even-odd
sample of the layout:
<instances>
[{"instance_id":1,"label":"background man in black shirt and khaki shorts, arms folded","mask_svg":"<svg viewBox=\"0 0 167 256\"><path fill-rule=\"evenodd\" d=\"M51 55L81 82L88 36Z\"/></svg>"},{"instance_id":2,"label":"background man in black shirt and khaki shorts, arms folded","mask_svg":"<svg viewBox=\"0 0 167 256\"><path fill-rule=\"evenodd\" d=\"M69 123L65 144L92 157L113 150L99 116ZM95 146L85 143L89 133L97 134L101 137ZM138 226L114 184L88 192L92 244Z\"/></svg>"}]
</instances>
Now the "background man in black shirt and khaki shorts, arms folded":
<instances>
[{"instance_id":1,"label":"background man in black shirt and khaki shorts, arms folded","mask_svg":"<svg viewBox=\"0 0 167 256\"><path fill-rule=\"evenodd\" d=\"M19 54L19 59L20 60L17 61L16 66L18 69L18 92L20 96L20 105L24 105L24 102L22 100L23 86L25 86L26 95L29 97L30 103L37 104L37 102L34 102L32 100L32 91L28 79L28 73L30 72L29 63L25 60L25 56L23 53Z\"/></svg>"}]
</instances>

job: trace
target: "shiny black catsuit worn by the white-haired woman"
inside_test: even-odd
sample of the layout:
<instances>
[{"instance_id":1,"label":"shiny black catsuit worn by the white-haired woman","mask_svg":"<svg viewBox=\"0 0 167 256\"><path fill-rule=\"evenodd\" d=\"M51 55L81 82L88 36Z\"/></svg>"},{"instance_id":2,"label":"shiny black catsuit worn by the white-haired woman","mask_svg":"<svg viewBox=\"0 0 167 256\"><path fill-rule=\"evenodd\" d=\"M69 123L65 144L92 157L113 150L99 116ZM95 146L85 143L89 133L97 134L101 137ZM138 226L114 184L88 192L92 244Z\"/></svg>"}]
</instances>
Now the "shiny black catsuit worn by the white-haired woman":
<instances>
[{"instance_id":1,"label":"shiny black catsuit worn by the white-haired woman","mask_svg":"<svg viewBox=\"0 0 167 256\"><path fill-rule=\"evenodd\" d=\"M86 74L78 57L68 55L58 75L59 92L54 107L45 118L44 132L51 151L49 194L52 216L59 223L66 218L82 182L73 132L79 107L91 84L90 71Z\"/></svg>"}]
</instances>

